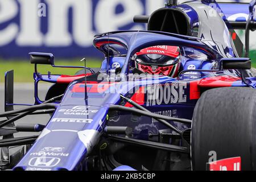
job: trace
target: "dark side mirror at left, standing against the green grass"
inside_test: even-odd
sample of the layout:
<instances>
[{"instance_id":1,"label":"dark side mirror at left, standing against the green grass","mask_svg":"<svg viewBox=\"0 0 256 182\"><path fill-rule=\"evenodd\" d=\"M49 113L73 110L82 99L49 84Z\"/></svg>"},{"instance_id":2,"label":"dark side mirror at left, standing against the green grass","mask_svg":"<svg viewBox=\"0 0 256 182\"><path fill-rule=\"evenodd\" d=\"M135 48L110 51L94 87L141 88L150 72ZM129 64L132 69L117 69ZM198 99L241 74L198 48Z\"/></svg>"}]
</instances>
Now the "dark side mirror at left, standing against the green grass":
<instances>
[{"instance_id":1,"label":"dark side mirror at left, standing against the green grass","mask_svg":"<svg viewBox=\"0 0 256 182\"><path fill-rule=\"evenodd\" d=\"M52 53L30 52L31 64L50 64L54 65L54 56Z\"/></svg>"}]
</instances>

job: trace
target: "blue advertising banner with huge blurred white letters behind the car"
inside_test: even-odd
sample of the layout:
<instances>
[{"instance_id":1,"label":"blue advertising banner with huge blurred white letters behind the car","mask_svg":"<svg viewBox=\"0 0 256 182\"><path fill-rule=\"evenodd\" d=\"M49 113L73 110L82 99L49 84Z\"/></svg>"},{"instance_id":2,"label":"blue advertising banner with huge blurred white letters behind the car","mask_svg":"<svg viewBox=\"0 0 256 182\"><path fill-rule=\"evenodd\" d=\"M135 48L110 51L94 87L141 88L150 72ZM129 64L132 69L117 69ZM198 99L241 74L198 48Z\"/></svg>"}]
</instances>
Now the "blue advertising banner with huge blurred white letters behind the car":
<instances>
[{"instance_id":1,"label":"blue advertising banner with huge blurred white letters behind the car","mask_svg":"<svg viewBox=\"0 0 256 182\"><path fill-rule=\"evenodd\" d=\"M244 0L247 2L247 0ZM134 15L150 15L164 0L0 0L0 58L27 59L28 52L55 57L100 57L93 36L114 30L146 30ZM181 3L182 1L178 1ZM235 1L236 2L236 1ZM237 31L244 43L244 31ZM256 31L250 56L256 60Z\"/></svg>"}]
</instances>

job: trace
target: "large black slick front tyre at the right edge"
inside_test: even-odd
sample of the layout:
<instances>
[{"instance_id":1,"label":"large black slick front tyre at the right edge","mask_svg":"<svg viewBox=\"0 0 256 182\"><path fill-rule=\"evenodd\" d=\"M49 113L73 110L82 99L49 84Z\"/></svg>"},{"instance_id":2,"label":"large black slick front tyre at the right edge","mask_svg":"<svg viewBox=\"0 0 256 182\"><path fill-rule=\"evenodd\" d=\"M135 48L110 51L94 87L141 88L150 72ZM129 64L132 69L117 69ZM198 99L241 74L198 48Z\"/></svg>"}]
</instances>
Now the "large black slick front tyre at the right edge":
<instances>
[{"instance_id":1,"label":"large black slick front tyre at the right edge","mask_svg":"<svg viewBox=\"0 0 256 182\"><path fill-rule=\"evenodd\" d=\"M217 160L240 156L241 170L256 169L255 89L216 88L201 95L192 119L193 170L206 169L210 151Z\"/></svg>"}]
</instances>

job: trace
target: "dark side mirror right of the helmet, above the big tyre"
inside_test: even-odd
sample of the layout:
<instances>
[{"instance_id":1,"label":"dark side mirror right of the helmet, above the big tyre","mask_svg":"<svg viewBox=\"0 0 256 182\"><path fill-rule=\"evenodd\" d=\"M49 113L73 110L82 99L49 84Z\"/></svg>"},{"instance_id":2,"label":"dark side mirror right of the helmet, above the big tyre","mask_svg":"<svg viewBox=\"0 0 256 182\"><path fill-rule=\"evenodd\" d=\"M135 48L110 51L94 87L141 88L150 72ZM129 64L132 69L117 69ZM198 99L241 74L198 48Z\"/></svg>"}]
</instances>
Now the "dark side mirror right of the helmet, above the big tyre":
<instances>
[{"instance_id":1,"label":"dark side mirror right of the helmet, above the big tyre","mask_svg":"<svg viewBox=\"0 0 256 182\"><path fill-rule=\"evenodd\" d=\"M251 69L251 60L247 57L221 59L223 69Z\"/></svg>"}]
</instances>

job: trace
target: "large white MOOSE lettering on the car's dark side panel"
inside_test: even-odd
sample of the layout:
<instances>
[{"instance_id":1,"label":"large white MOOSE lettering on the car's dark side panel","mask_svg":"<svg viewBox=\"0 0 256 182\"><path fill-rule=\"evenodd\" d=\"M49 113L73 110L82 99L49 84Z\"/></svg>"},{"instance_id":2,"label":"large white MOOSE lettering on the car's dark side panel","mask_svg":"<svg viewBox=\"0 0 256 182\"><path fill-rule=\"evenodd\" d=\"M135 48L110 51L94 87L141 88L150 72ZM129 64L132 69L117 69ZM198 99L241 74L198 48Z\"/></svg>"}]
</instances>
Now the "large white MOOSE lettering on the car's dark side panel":
<instances>
[{"instance_id":1,"label":"large white MOOSE lettering on the car's dark side panel","mask_svg":"<svg viewBox=\"0 0 256 182\"><path fill-rule=\"evenodd\" d=\"M172 82L164 85L147 86L147 106L187 102L186 82Z\"/></svg>"}]
</instances>

